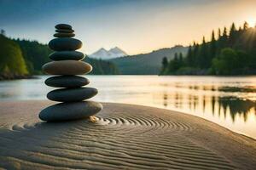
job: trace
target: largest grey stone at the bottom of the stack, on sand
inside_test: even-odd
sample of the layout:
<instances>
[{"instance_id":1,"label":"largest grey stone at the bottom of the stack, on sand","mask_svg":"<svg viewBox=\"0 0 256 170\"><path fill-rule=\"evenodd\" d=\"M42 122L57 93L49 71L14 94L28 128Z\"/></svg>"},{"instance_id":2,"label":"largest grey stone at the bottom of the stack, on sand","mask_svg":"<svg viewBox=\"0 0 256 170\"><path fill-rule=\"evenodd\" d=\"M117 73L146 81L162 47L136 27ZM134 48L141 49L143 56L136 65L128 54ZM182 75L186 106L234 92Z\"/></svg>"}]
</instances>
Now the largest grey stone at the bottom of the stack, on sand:
<instances>
[{"instance_id":1,"label":"largest grey stone at the bottom of the stack, on sand","mask_svg":"<svg viewBox=\"0 0 256 170\"><path fill-rule=\"evenodd\" d=\"M73 121L96 115L102 108L102 104L93 101L61 103L45 108L39 118L47 122Z\"/></svg>"}]
</instances>

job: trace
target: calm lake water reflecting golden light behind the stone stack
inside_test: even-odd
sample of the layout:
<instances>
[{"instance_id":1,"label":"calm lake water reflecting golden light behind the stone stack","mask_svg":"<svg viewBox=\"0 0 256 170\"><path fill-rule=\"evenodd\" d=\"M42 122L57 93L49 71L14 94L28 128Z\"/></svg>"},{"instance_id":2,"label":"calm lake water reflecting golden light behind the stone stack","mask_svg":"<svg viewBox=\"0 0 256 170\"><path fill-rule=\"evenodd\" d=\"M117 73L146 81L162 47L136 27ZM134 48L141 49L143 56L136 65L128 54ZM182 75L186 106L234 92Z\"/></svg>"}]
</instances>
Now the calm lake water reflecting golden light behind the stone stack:
<instances>
[{"instance_id":1,"label":"calm lake water reflecting golden light behind the stone stack","mask_svg":"<svg viewBox=\"0 0 256 170\"><path fill-rule=\"evenodd\" d=\"M46 78L0 82L0 100L46 99ZM256 139L256 77L88 78L95 100L183 111Z\"/></svg>"}]
</instances>

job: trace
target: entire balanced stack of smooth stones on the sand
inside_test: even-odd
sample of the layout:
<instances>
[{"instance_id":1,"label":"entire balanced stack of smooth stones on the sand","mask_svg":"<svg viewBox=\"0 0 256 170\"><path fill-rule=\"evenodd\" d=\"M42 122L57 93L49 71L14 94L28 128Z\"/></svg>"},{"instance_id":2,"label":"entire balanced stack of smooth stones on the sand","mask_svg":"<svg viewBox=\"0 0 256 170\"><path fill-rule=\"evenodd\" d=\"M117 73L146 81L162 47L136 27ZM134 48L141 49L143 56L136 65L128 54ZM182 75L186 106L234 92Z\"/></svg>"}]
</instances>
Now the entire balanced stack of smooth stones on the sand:
<instances>
[{"instance_id":1,"label":"entire balanced stack of smooth stones on the sand","mask_svg":"<svg viewBox=\"0 0 256 170\"><path fill-rule=\"evenodd\" d=\"M96 88L82 88L89 84L89 80L76 75L83 75L92 70L91 65L81 61L84 54L75 51L82 47L82 42L73 38L72 26L56 25L57 37L49 42L49 48L55 52L49 55L52 62L43 65L44 72L50 75L45 84L59 88L50 91L47 98L61 102L51 105L40 112L39 118L47 122L69 121L88 118L102 110L102 105L93 101L84 101L97 94Z\"/></svg>"}]
</instances>

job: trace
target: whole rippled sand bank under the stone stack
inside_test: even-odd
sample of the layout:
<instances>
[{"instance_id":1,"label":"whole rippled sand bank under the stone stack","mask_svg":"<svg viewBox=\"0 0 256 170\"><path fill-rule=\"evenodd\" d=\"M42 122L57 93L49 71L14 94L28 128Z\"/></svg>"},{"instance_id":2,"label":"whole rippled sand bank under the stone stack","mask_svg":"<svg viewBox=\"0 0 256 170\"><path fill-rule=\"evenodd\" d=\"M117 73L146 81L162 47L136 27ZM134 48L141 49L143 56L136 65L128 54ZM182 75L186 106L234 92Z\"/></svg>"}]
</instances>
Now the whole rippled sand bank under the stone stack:
<instances>
[{"instance_id":1,"label":"whole rippled sand bank under the stone stack","mask_svg":"<svg viewBox=\"0 0 256 170\"><path fill-rule=\"evenodd\" d=\"M254 139L196 116L104 103L97 122L41 122L47 105L0 102L0 169L256 167Z\"/></svg>"}]
</instances>

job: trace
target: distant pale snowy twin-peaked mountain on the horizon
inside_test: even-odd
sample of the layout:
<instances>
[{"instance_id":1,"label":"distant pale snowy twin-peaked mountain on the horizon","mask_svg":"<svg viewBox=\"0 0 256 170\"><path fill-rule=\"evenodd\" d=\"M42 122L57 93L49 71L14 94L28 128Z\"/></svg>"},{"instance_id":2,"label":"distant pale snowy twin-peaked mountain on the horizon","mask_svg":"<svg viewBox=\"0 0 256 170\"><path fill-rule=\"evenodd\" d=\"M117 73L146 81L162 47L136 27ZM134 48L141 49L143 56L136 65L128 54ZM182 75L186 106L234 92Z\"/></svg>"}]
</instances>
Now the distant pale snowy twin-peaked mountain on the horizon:
<instances>
[{"instance_id":1,"label":"distant pale snowy twin-peaked mountain on the horizon","mask_svg":"<svg viewBox=\"0 0 256 170\"><path fill-rule=\"evenodd\" d=\"M105 48L100 48L95 53L90 54L89 57L92 59L113 59L118 57L126 56L127 54L122 49L115 47L109 50Z\"/></svg>"}]
</instances>

